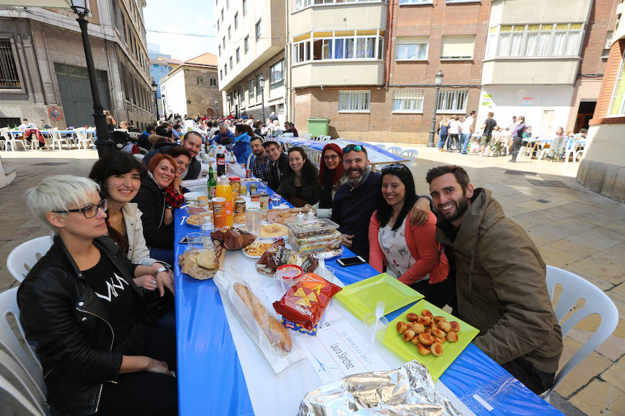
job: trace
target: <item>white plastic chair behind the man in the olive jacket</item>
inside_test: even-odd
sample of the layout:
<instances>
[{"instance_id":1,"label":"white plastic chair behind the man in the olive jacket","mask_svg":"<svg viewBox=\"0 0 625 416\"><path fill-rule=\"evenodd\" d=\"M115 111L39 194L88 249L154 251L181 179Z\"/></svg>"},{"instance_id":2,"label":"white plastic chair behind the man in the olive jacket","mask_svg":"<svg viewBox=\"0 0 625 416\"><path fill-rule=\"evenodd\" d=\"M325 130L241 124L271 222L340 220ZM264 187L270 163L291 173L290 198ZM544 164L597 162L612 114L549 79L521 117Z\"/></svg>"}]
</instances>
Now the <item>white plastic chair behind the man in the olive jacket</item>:
<instances>
[{"instance_id":1,"label":"white plastic chair behind the man in the olive jacket","mask_svg":"<svg viewBox=\"0 0 625 416\"><path fill-rule=\"evenodd\" d=\"M574 356L569 358L569 361L567 361L564 367L562 367L562 370L556 375L556 379L553 381L551 388L542 394L544 399L548 399L549 395L551 395L551 392L553 392L560 381L562 381L576 365L581 363L588 354L593 352L594 349L599 347L603 341L612 335L612 332L614 332L619 322L619 311L614 302L612 302L610 297L603 293L601 289L590 283L590 281L578 275L574 275L572 272L567 272L567 270L547 266L547 291L549 291L551 300L553 300L553 291L556 284L562 285L562 294L560 295L560 300L558 300L555 309L556 319L562 328L562 338L564 338L567 332L578 322L593 313L597 313L601 316L601 323L590 339L587 340ZM585 300L585 305L573 311L572 315L562 322L565 315L571 311L573 306L580 299Z\"/></svg>"}]
</instances>

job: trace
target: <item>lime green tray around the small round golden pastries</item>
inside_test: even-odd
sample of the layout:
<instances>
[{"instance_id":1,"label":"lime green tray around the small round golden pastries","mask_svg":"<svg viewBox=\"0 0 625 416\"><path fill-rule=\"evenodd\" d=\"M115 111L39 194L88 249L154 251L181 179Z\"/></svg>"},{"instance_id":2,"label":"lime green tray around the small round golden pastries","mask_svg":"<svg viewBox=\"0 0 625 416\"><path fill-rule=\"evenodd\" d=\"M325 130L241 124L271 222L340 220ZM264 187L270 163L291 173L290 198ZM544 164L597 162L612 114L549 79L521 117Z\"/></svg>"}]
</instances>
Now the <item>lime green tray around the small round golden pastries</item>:
<instances>
[{"instance_id":1,"label":"lime green tray around the small round golden pastries","mask_svg":"<svg viewBox=\"0 0 625 416\"><path fill-rule=\"evenodd\" d=\"M456 321L460 324L460 331L458 331L458 342L449 343L449 341L445 341L442 343L443 353L441 356L433 356L432 354L422 356L417 351L417 345L414 345L408 341L405 343L403 341L403 336L397 333L397 322L400 320L403 322L408 322L406 320L406 315L408 313L416 313L417 315L421 315L421 311L424 309L428 309L434 316L444 316L447 318L447 322ZM383 345L390 349L392 352L397 354L402 360L408 362L412 360L417 360L419 363L422 363L428 370L430 370L430 374L432 379L437 380L441 374L453 361L460 355L463 349L471 343L473 338L480 333L479 329L472 327L462 320L459 320L455 316L443 311L440 308L437 308L430 302L426 300L420 300L417 304L413 305L407 311L399 315L395 318L390 324L388 324L388 328L386 329L386 333L384 334Z\"/></svg>"}]
</instances>

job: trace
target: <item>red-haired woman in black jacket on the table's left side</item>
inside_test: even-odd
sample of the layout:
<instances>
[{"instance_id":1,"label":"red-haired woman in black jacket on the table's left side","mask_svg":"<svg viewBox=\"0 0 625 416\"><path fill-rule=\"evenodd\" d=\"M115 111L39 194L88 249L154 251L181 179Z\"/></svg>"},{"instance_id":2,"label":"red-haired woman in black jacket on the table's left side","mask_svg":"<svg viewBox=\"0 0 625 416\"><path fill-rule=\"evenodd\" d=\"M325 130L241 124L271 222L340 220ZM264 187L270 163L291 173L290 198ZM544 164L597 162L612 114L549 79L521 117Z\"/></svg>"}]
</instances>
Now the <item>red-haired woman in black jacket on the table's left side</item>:
<instances>
[{"instance_id":1,"label":"red-haired woman in black jacket on the table's left side","mask_svg":"<svg viewBox=\"0 0 625 416\"><path fill-rule=\"evenodd\" d=\"M143 213L143 235L150 256L174 264L174 227L165 224L167 187L176 177L176 162L169 155L156 154L150 159L148 174L132 202Z\"/></svg>"}]
</instances>

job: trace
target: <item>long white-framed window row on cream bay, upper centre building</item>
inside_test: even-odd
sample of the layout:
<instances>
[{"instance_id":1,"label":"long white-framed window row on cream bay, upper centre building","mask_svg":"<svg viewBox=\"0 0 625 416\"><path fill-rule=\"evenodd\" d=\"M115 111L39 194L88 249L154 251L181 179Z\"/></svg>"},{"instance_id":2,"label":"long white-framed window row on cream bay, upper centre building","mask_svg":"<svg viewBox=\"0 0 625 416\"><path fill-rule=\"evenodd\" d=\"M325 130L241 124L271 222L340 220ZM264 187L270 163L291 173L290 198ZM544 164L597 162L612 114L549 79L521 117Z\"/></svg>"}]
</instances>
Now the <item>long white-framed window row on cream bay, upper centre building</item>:
<instances>
[{"instance_id":1,"label":"long white-framed window row on cream bay, upper centre building","mask_svg":"<svg viewBox=\"0 0 625 416\"><path fill-rule=\"evenodd\" d=\"M310 35L304 35L304 39L295 37L293 63L334 59L381 60L384 45L383 31L371 32L374 36L358 35L354 31L334 31L330 32L332 36L314 37L313 40L310 40Z\"/></svg>"}]
</instances>

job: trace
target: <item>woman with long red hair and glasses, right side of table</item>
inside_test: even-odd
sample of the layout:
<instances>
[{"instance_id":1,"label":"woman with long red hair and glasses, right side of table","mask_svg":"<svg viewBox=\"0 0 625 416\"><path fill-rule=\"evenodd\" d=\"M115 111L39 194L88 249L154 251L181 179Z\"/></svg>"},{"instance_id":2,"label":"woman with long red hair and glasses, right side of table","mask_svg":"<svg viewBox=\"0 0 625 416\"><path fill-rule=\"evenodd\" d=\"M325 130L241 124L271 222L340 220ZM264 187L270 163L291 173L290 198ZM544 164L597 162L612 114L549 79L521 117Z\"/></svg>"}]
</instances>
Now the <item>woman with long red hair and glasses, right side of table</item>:
<instances>
[{"instance_id":1,"label":"woman with long red hair and glasses, right side of table","mask_svg":"<svg viewBox=\"0 0 625 416\"><path fill-rule=\"evenodd\" d=\"M319 218L332 216L334 194L346 180L343 174L343 151L338 144L326 144L319 163L319 184L322 187L322 193L319 202L315 205Z\"/></svg>"}]
</instances>

